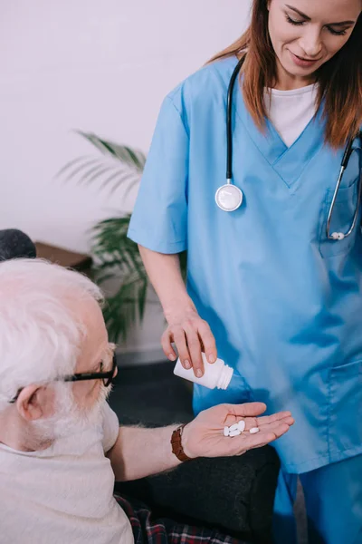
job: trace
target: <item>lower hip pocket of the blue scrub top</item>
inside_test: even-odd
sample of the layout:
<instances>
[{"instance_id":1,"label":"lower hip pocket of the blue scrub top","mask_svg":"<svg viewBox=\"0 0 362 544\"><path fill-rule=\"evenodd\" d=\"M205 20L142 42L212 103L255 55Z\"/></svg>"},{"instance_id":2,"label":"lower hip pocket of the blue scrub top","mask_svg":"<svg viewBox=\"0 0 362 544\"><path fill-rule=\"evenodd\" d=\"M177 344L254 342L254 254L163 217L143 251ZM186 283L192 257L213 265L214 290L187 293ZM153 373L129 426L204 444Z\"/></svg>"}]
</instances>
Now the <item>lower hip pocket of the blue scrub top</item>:
<instances>
[{"instance_id":1,"label":"lower hip pocket of the blue scrub top","mask_svg":"<svg viewBox=\"0 0 362 544\"><path fill-rule=\"evenodd\" d=\"M329 453L331 461L340 452L362 444L362 361L331 370L329 382Z\"/></svg>"}]
</instances>

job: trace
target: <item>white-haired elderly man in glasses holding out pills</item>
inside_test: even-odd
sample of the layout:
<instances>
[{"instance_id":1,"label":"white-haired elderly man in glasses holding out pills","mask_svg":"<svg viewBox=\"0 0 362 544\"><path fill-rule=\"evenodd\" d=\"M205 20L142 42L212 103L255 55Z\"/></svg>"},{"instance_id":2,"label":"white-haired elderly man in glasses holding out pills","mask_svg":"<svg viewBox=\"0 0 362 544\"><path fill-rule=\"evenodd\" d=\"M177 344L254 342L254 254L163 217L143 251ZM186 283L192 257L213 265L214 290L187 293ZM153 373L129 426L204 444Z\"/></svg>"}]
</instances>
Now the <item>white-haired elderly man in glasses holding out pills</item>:
<instances>
[{"instance_id":1,"label":"white-haired elderly man in glasses holding out pills","mask_svg":"<svg viewBox=\"0 0 362 544\"><path fill-rule=\"evenodd\" d=\"M119 428L106 402L117 367L100 302L100 289L76 272L40 259L0 263L0 541L233 542L209 529L141 520L114 498L114 481L188 458L241 455L287 432L291 414L257 417L261 403L222 404L183 432ZM241 419L246 431L224 437L224 425ZM256 426L260 432L248 432Z\"/></svg>"}]
</instances>

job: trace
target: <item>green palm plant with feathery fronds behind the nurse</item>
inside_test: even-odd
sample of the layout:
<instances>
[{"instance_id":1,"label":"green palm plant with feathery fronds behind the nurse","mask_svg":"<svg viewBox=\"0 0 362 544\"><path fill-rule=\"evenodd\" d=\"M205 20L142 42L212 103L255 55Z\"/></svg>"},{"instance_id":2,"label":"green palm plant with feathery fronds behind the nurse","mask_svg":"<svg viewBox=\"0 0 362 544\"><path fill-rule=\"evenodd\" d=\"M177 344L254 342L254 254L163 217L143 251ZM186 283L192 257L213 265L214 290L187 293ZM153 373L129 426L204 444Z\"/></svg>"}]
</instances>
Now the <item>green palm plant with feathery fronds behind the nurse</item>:
<instances>
[{"instance_id":1,"label":"green palm plant with feathery fronds behind the nurse","mask_svg":"<svg viewBox=\"0 0 362 544\"><path fill-rule=\"evenodd\" d=\"M101 139L90 132L77 131L98 153L71 160L58 176L79 183L98 183L100 190L113 194L120 187L124 196L139 184L146 156L142 151ZM127 238L130 214L104 219L91 232L93 274L100 284L113 279L117 288L107 296L103 309L110 338L125 341L129 327L142 321L148 300L148 276L139 256L138 246ZM181 269L186 277L186 253L181 254Z\"/></svg>"}]
</instances>

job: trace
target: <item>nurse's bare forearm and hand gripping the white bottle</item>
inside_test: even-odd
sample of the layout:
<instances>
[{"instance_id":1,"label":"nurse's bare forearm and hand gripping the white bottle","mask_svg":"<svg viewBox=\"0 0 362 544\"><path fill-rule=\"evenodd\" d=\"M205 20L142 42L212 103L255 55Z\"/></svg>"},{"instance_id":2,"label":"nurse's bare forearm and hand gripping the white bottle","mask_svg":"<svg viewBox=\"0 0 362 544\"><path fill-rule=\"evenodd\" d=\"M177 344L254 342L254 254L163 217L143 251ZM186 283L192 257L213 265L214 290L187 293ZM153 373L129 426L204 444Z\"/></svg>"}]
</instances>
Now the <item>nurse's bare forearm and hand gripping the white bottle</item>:
<instances>
[{"instance_id":1,"label":"nurse's bare forearm and hand gripping the white bottle","mask_svg":"<svg viewBox=\"0 0 362 544\"><path fill-rule=\"evenodd\" d=\"M167 319L168 326L161 339L164 353L170 361L176 361L175 344L183 366L193 367L195 375L201 377L204 374L201 352L205 352L207 361L214 363L216 345L209 325L197 314L187 295L178 255L138 248Z\"/></svg>"}]
</instances>

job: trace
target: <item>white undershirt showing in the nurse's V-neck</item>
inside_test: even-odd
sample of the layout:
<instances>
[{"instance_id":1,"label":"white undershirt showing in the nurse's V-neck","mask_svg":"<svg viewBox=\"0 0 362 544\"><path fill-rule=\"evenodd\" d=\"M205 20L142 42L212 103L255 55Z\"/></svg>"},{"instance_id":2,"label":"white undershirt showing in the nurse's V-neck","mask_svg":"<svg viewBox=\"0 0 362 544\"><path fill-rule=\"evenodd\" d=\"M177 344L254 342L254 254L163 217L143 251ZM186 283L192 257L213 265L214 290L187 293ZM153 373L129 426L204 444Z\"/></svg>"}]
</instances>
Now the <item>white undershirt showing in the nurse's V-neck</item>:
<instances>
[{"instance_id":1,"label":"white undershirt showing in the nurse's V-neck","mask_svg":"<svg viewBox=\"0 0 362 544\"><path fill-rule=\"evenodd\" d=\"M271 123L281 140L291 147L316 112L317 84L291 91L271 89L271 98L268 92L264 96Z\"/></svg>"}]
</instances>

